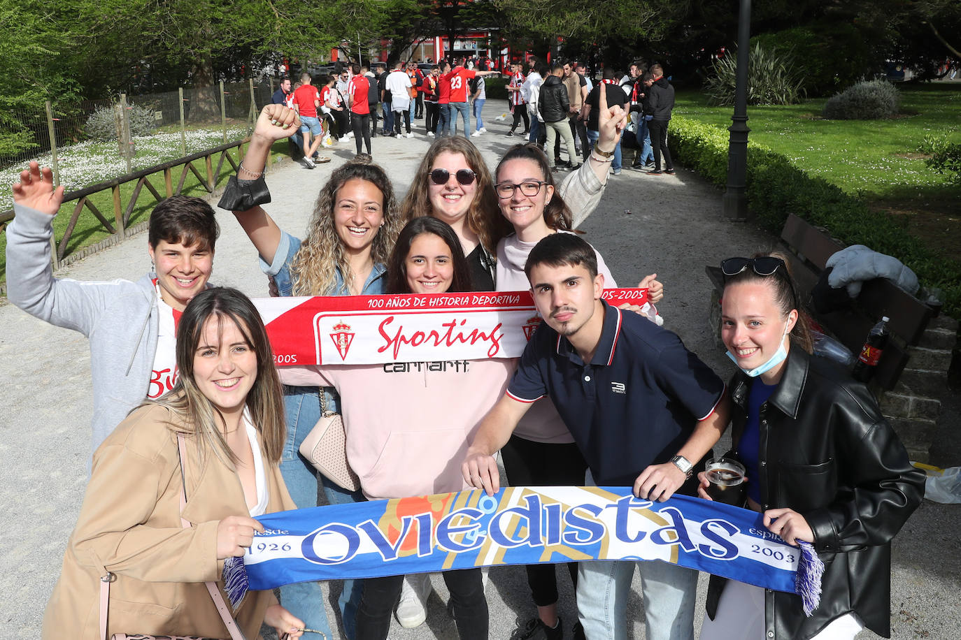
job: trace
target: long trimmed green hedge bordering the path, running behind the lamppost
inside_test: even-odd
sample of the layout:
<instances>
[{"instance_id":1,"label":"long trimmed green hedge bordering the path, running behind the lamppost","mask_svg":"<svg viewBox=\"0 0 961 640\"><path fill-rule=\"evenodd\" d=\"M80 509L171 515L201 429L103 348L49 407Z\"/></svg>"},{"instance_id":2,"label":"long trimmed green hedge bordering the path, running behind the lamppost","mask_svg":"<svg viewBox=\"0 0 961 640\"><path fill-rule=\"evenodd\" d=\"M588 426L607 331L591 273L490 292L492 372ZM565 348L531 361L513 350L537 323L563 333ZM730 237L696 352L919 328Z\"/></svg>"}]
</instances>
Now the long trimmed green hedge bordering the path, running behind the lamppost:
<instances>
[{"instance_id":1,"label":"long trimmed green hedge bordering the path, running behind the lamppost","mask_svg":"<svg viewBox=\"0 0 961 640\"><path fill-rule=\"evenodd\" d=\"M691 118L671 118L671 155L714 184L727 185L727 130ZM790 213L824 226L848 245L866 245L892 255L918 274L922 284L944 292L945 311L961 318L961 267L938 257L905 225L844 193L824 178L812 178L782 154L748 143L748 206L757 222L780 234Z\"/></svg>"}]
</instances>

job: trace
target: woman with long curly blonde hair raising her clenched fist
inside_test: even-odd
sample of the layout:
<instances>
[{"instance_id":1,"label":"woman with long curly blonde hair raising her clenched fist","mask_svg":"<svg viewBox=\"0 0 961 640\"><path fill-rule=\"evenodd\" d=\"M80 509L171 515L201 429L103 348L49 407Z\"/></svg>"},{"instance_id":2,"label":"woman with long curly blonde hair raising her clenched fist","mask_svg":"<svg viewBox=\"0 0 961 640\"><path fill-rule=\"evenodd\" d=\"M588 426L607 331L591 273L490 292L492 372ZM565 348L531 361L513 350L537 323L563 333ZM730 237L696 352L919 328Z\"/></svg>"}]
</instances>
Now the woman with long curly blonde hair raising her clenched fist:
<instances>
[{"instance_id":1,"label":"woman with long curly blonde hair raising her clenched fist","mask_svg":"<svg viewBox=\"0 0 961 640\"><path fill-rule=\"evenodd\" d=\"M288 137L297 121L297 114L282 105L263 108L237 178L231 178L220 206L234 211L260 254L260 268L271 276L279 295L385 293L387 259L403 225L393 187L381 167L349 162L336 169L320 190L303 242L283 231L259 206L269 201L263 168L270 147L275 140ZM300 445L320 419L322 406L327 412L340 411L339 396L333 388L284 387L283 392L287 426L283 481L298 508L316 507L317 471L300 455ZM360 498L323 476L321 480L330 504ZM308 628L333 637L317 582L283 586L281 599L303 612ZM339 604L348 638L354 638L359 599L359 581L344 581Z\"/></svg>"}]
</instances>

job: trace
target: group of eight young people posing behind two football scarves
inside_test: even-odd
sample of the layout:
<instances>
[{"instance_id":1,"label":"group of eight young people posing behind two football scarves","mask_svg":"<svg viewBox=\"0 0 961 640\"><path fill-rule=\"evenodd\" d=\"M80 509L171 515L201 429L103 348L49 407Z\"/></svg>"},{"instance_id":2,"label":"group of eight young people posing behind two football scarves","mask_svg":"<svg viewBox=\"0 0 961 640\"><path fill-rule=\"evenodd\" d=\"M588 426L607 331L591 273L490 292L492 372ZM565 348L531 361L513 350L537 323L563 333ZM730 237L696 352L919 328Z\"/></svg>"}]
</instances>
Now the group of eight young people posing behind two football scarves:
<instances>
[{"instance_id":1,"label":"group of eight young people posing behind two football scarves","mask_svg":"<svg viewBox=\"0 0 961 640\"><path fill-rule=\"evenodd\" d=\"M55 278L50 238L62 187L54 188L48 169L24 171L7 231L8 296L89 338L94 396L91 476L43 637L63 628L91 640L117 632L226 637L234 634L230 618L247 637L262 622L289 637L305 629L333 637L315 582L284 586L280 603L271 592L255 593L233 615L218 612L223 563L262 531L254 517L318 504L317 474L299 446L322 408L343 415L361 486L351 493L320 478L330 503L493 491L497 451L515 485L628 485L666 500L705 486L692 474L730 417L736 452L757 487L748 507L764 511L769 529L789 544L815 545L828 567L825 596L804 617L793 594L712 582L708 606L718 627L702 637L887 630L890 541L920 501L923 475L870 391L808 354L800 297L779 259L724 264L723 335L739 369L727 391L660 326L652 306L604 302L613 277L573 233L601 200L627 122L627 112L604 98L599 110L594 152L559 184L534 146L508 149L492 173L457 136L434 141L400 203L381 167L349 162L321 189L304 240L262 206L267 154L301 118L283 105L261 111L220 206L234 212L280 296L532 291L544 323L520 362L456 369L276 369L250 301L209 284L218 226L199 199L174 197L155 209L154 265L138 282ZM653 274L639 286L653 302L663 295ZM627 392L616 392L615 378ZM443 404L443 419L420 410L431 403ZM633 568L569 565L576 637L625 637ZM696 572L663 562L640 570L648 638L693 637ZM554 566L527 571L536 616L515 635L560 637ZM488 637L480 569L443 579L459 636ZM345 583L339 608L347 637L387 637L403 583L403 576ZM825 635L842 625L848 635Z\"/></svg>"}]
</instances>

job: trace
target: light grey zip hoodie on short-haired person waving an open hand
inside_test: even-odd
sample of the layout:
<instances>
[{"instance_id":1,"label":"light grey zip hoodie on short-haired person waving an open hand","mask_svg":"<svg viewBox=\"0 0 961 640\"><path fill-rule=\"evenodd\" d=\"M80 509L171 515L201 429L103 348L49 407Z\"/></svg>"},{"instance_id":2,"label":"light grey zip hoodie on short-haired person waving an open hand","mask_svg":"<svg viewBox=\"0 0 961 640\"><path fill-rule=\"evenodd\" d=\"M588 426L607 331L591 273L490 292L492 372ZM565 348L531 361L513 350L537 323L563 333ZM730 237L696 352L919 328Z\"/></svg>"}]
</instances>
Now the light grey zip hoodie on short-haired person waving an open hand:
<instances>
[{"instance_id":1,"label":"light grey zip hoodie on short-haired person waving an open hand","mask_svg":"<svg viewBox=\"0 0 961 640\"><path fill-rule=\"evenodd\" d=\"M7 296L32 316L84 334L93 382L91 454L146 396L159 320L153 274L136 282L55 278L53 216L19 204L7 228Z\"/></svg>"}]
</instances>

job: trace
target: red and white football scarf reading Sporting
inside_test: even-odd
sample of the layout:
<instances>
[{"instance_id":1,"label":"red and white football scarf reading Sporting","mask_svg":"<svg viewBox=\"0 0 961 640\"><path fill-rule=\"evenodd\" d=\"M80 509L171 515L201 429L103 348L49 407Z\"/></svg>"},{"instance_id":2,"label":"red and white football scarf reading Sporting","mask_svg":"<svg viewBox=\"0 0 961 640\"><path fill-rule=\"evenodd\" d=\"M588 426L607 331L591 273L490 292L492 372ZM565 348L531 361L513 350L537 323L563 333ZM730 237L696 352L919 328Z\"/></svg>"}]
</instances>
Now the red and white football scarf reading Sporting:
<instances>
[{"instance_id":1,"label":"red and white football scarf reading Sporting","mask_svg":"<svg viewBox=\"0 0 961 640\"><path fill-rule=\"evenodd\" d=\"M613 306L646 289L606 289ZM530 292L254 300L279 367L518 358L540 317Z\"/></svg>"}]
</instances>

